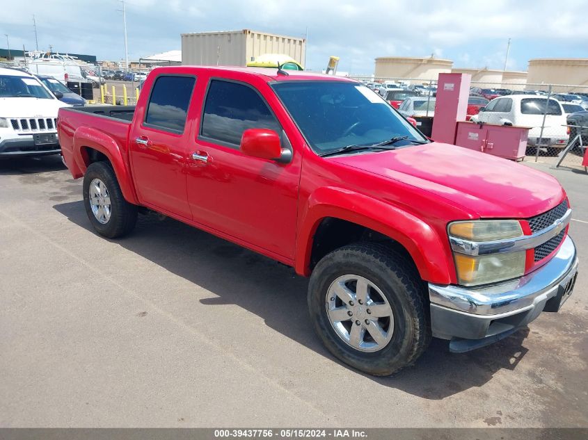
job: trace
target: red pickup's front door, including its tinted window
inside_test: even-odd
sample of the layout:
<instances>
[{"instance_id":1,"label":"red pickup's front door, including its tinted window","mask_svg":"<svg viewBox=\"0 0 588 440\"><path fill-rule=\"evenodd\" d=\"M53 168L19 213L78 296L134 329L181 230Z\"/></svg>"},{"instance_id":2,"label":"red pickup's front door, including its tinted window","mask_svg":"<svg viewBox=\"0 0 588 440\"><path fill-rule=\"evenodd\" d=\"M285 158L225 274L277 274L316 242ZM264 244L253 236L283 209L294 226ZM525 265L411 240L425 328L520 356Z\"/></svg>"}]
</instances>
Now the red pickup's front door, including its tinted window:
<instances>
[{"instance_id":1,"label":"red pickup's front door, including its tinted window","mask_svg":"<svg viewBox=\"0 0 588 440\"><path fill-rule=\"evenodd\" d=\"M274 130L283 145L288 142L255 88L212 79L201 125L193 127L193 156L187 168L193 220L293 260L301 154L294 152L289 163L243 154L241 135L253 128Z\"/></svg>"}]
</instances>

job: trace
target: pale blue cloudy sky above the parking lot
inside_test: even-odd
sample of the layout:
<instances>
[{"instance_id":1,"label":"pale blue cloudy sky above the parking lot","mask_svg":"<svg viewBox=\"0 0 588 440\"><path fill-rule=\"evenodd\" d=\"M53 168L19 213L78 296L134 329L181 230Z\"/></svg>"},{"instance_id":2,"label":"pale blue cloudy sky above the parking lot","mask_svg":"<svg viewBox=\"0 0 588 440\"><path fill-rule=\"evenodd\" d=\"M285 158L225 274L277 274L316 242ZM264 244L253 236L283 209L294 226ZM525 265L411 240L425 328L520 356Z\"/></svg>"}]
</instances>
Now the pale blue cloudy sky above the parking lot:
<instances>
[{"instance_id":1,"label":"pale blue cloudy sky above the parking lot","mask_svg":"<svg viewBox=\"0 0 588 440\"><path fill-rule=\"evenodd\" d=\"M10 47L34 49L32 12L40 49L124 58L120 1L0 0L0 34ZM509 70L530 58L588 58L588 0L356 1L128 0L129 57L180 49L180 33L250 28L304 36L307 67L321 70L340 56L340 70L371 74L378 56L430 56L455 67L502 69L512 38ZM578 11L581 11L579 13ZM6 38L0 35L0 47Z\"/></svg>"}]
</instances>

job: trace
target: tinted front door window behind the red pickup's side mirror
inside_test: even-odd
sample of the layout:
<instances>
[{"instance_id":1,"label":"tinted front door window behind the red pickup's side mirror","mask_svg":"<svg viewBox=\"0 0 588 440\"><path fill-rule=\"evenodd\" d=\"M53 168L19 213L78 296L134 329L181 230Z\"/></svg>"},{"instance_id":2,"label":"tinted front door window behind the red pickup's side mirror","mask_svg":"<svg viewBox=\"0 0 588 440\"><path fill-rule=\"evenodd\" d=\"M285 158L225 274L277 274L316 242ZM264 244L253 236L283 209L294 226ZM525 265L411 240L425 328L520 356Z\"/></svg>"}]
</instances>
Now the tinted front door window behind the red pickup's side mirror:
<instances>
[{"instance_id":1,"label":"tinted front door window behind the red pickup's side mirror","mask_svg":"<svg viewBox=\"0 0 588 440\"><path fill-rule=\"evenodd\" d=\"M233 146L241 144L246 129L282 131L256 90L232 81L210 81L200 135Z\"/></svg>"}]
</instances>

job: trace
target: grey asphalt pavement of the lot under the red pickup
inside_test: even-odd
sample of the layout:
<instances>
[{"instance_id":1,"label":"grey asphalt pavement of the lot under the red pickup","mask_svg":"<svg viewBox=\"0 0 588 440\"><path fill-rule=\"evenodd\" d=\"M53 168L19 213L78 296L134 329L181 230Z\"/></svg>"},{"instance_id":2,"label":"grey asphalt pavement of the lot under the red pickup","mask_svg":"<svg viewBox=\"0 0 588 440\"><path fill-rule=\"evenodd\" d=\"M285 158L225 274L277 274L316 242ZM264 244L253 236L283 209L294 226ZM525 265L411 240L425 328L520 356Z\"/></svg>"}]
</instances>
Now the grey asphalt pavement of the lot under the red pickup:
<instances>
[{"instance_id":1,"label":"grey asphalt pavement of the lot under the red pickup","mask_svg":"<svg viewBox=\"0 0 588 440\"><path fill-rule=\"evenodd\" d=\"M0 161L0 426L588 427L588 175L521 166L569 193L571 299L376 378L319 343L291 268L155 215L106 240L58 157Z\"/></svg>"}]
</instances>

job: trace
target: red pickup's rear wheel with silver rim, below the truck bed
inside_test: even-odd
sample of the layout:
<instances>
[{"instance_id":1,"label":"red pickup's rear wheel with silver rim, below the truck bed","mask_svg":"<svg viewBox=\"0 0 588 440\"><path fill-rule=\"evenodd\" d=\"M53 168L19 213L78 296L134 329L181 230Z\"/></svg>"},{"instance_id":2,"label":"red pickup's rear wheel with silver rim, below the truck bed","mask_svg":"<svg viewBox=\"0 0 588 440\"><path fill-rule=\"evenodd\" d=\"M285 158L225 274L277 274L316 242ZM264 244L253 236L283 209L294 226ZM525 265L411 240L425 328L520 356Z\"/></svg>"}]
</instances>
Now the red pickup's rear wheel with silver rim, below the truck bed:
<instances>
[{"instance_id":1,"label":"red pickup's rear wheel with silver rim, below the truck bed","mask_svg":"<svg viewBox=\"0 0 588 440\"><path fill-rule=\"evenodd\" d=\"M91 163L84 175L84 206L98 234L118 238L129 234L137 220L137 206L125 200L108 162Z\"/></svg>"}]
</instances>

